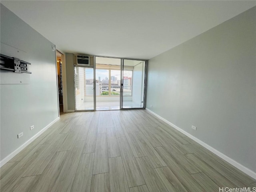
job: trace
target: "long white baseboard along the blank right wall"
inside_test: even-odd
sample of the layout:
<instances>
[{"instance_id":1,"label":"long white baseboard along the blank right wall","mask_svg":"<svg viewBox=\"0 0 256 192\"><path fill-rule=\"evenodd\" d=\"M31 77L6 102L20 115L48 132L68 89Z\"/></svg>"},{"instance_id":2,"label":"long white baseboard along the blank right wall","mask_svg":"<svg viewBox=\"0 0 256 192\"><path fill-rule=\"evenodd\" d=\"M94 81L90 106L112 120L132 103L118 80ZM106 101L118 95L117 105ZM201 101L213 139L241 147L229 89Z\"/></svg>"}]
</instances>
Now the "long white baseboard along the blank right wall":
<instances>
[{"instance_id":1,"label":"long white baseboard along the blank right wall","mask_svg":"<svg viewBox=\"0 0 256 192\"><path fill-rule=\"evenodd\" d=\"M256 173L253 172L252 170L248 169L247 167L243 166L242 164L236 162L235 160L233 160L232 158L226 156L225 154L223 154L222 152L219 152L218 150L214 149L213 147L211 147L210 145L206 144L205 142L202 142L200 139L192 136L191 134L189 134L188 132L182 130L181 128L179 128L178 126L172 124L171 122L169 122L168 120L162 118L161 116L159 116L158 114L152 112L151 110L149 110L148 108L146 108L146 110L148 112L150 112L151 114L153 114L154 116L160 118L161 120L163 120L164 122L166 122L167 124L169 124L170 126L172 126L173 128L175 128L176 130L182 132L184 135L188 136L189 138L191 138L192 140L194 140L195 142L197 142L198 144L202 145L203 147L205 147L206 149L210 150L211 152L213 152L214 154L216 154L217 156L219 156L220 158L222 158L223 160L225 160L226 162L229 162L230 164L232 164L233 166L235 166L236 168L238 168L239 170L241 170L242 172L244 172L245 174L251 176L252 178L256 179Z\"/></svg>"}]
</instances>

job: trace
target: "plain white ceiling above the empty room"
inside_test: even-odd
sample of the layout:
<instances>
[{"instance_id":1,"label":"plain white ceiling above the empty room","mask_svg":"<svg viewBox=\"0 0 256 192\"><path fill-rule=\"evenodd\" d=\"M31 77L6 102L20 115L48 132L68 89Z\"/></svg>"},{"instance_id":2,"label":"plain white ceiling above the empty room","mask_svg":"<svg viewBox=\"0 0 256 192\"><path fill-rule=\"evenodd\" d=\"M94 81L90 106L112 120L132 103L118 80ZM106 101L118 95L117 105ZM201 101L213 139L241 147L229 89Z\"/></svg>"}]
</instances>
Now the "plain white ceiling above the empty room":
<instances>
[{"instance_id":1,"label":"plain white ceiling above the empty room","mask_svg":"<svg viewBox=\"0 0 256 192\"><path fill-rule=\"evenodd\" d=\"M64 52L149 59L256 1L4 1Z\"/></svg>"}]
</instances>

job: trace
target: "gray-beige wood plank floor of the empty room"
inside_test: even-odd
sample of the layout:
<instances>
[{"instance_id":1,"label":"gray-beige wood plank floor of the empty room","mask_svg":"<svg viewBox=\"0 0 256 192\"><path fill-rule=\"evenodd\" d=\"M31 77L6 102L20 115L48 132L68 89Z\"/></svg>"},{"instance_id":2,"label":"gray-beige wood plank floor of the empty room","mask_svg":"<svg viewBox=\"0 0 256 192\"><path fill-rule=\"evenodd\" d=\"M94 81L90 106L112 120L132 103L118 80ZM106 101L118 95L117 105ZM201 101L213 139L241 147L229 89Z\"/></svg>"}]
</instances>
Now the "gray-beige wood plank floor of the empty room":
<instances>
[{"instance_id":1,"label":"gray-beige wood plank floor of the empty room","mask_svg":"<svg viewBox=\"0 0 256 192\"><path fill-rule=\"evenodd\" d=\"M256 186L146 110L64 113L0 169L1 192L217 192Z\"/></svg>"}]
</instances>

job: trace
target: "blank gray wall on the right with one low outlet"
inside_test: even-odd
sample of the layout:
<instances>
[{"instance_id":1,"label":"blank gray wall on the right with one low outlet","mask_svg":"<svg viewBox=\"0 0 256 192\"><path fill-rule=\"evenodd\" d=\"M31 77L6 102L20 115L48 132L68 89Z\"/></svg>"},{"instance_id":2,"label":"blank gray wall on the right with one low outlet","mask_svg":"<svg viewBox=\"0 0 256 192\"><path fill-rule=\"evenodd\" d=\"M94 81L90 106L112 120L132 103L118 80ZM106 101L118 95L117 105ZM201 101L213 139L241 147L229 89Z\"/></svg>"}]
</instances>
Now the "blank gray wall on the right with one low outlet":
<instances>
[{"instance_id":1,"label":"blank gray wall on the right with one low outlet","mask_svg":"<svg viewBox=\"0 0 256 192\"><path fill-rule=\"evenodd\" d=\"M254 172L255 13L254 7L150 59L147 92L147 108Z\"/></svg>"}]
</instances>

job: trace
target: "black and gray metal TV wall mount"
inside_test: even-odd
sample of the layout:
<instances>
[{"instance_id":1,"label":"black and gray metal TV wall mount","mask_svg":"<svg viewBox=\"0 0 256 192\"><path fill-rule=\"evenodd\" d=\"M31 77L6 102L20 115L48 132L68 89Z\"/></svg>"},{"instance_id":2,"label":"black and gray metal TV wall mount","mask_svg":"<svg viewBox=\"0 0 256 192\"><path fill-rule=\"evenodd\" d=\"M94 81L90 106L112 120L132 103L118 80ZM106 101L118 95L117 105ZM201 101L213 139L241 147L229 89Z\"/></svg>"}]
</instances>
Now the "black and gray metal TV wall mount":
<instances>
[{"instance_id":1,"label":"black and gray metal TV wall mount","mask_svg":"<svg viewBox=\"0 0 256 192\"><path fill-rule=\"evenodd\" d=\"M9 70L15 73L29 73L28 65L31 63L22 61L19 58L9 57L3 54L0 54L1 62L0 62L0 69L2 70Z\"/></svg>"}]
</instances>

